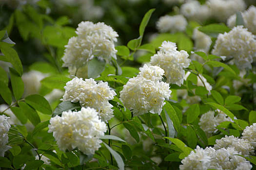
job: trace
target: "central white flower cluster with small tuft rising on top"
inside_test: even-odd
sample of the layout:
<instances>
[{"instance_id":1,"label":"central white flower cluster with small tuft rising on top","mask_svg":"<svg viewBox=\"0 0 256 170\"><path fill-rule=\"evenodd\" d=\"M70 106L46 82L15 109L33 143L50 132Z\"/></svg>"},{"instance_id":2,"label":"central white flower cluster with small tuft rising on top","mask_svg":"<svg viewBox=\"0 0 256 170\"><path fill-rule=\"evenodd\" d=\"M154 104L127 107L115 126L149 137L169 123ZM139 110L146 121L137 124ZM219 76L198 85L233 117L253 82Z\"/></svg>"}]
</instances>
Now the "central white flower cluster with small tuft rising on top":
<instances>
[{"instance_id":1,"label":"central white flower cluster with small tuft rising on top","mask_svg":"<svg viewBox=\"0 0 256 170\"><path fill-rule=\"evenodd\" d=\"M160 82L163 75L162 68L144 65L140 68L138 76L129 79L123 86L120 101L125 107L133 110L135 116L147 112L160 114L164 100L169 99L172 92L169 90L169 84Z\"/></svg>"}]
</instances>

